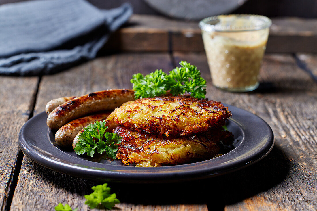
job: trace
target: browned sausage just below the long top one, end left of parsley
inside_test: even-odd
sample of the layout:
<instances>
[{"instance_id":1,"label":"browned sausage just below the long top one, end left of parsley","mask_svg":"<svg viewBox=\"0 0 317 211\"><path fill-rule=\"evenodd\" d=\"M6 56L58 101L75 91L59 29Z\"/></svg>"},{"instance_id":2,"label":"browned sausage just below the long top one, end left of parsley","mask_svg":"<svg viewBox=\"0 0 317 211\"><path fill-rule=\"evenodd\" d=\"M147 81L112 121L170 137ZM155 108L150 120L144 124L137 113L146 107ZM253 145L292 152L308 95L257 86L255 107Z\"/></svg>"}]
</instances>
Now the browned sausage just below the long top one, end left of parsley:
<instances>
[{"instance_id":1,"label":"browned sausage just below the long top one, end left of parsley","mask_svg":"<svg viewBox=\"0 0 317 211\"><path fill-rule=\"evenodd\" d=\"M94 115L85 116L79 119L75 119L55 133L55 141L58 146L70 147L72 146L73 140L76 134L87 125L94 123L95 121L107 118L110 112L102 112Z\"/></svg>"}]
</instances>

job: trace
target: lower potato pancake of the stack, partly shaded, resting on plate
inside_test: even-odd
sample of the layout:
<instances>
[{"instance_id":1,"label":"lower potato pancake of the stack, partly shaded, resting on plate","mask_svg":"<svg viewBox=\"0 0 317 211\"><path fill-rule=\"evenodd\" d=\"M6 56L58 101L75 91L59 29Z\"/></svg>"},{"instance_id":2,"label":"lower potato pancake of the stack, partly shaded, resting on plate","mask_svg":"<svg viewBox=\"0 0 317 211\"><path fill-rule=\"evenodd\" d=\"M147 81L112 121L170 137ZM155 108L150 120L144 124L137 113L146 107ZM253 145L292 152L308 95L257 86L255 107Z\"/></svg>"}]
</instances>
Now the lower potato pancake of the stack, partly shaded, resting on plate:
<instances>
[{"instance_id":1,"label":"lower potato pancake of the stack, partly shaded, resting on plate","mask_svg":"<svg viewBox=\"0 0 317 211\"><path fill-rule=\"evenodd\" d=\"M116 157L129 165L155 167L167 164L182 164L213 158L219 152L219 142L232 141L232 133L212 129L193 137L166 137L139 133L124 126L113 130L122 137Z\"/></svg>"}]
</instances>

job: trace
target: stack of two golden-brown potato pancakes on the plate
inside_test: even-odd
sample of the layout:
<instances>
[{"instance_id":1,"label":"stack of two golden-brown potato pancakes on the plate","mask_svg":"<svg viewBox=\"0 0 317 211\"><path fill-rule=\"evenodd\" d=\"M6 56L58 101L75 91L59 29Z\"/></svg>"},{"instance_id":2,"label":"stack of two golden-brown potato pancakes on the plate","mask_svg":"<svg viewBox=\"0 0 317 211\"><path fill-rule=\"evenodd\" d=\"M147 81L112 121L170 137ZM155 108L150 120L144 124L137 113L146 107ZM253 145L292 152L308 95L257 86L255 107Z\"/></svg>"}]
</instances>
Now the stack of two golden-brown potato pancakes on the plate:
<instances>
[{"instance_id":1,"label":"stack of two golden-brown potato pancakes on the plate","mask_svg":"<svg viewBox=\"0 0 317 211\"><path fill-rule=\"evenodd\" d=\"M189 95L142 98L116 108L107 121L122 137L117 158L128 165L155 167L213 158L232 133L222 126L230 118L220 102Z\"/></svg>"}]
</instances>

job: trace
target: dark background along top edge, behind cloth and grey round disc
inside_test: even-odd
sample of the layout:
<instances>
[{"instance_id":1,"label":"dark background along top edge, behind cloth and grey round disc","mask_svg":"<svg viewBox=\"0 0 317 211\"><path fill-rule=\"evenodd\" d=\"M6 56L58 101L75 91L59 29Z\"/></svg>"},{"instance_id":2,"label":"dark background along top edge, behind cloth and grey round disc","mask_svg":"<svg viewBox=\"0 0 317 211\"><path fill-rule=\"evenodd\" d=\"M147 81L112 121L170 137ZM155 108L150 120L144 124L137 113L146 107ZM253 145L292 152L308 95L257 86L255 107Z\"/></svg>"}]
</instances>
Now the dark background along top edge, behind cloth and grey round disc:
<instances>
[{"instance_id":1,"label":"dark background along top edge, behind cloth and grey round disc","mask_svg":"<svg viewBox=\"0 0 317 211\"><path fill-rule=\"evenodd\" d=\"M24 0L0 0L0 4L19 2ZM133 5L135 14L156 14L158 12L150 8L142 0L88 0L99 8L109 9L118 7L124 2ZM219 0L222 1L222 0ZM231 13L258 14L268 17L297 16L305 18L317 17L317 0L249 0L239 9Z\"/></svg>"}]
</instances>

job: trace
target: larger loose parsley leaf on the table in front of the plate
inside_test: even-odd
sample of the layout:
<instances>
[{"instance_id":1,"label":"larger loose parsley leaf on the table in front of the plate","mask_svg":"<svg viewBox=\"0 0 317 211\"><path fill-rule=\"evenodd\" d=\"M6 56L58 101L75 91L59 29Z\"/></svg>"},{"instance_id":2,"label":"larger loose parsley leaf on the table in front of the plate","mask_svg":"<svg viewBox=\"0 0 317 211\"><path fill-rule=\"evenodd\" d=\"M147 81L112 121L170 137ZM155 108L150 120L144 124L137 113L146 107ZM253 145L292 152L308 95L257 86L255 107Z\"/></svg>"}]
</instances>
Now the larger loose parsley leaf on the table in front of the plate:
<instances>
[{"instance_id":1,"label":"larger loose parsley leaf on the table in front of the plate","mask_svg":"<svg viewBox=\"0 0 317 211\"><path fill-rule=\"evenodd\" d=\"M89 195L85 195L85 198L87 199L85 204L87 204L90 208L98 207L112 209L115 204L120 203L115 193L110 194L111 188L107 187L107 183L93 186L91 189L93 189L94 192Z\"/></svg>"}]
</instances>

